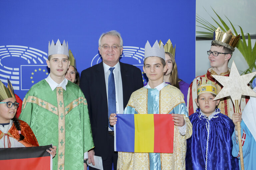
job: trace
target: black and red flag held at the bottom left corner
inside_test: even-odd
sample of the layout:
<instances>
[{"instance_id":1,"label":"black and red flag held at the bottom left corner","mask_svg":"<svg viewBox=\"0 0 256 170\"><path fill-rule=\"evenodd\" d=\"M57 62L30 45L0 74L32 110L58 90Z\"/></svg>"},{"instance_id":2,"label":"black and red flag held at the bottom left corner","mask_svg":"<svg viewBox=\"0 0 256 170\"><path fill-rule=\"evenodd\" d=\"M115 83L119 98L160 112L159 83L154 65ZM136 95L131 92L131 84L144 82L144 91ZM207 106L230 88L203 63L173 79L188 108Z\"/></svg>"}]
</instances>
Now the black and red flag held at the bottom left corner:
<instances>
[{"instance_id":1,"label":"black and red flag held at the bottom left corner","mask_svg":"<svg viewBox=\"0 0 256 170\"><path fill-rule=\"evenodd\" d=\"M48 146L0 148L0 169L52 170L52 156Z\"/></svg>"}]
</instances>

